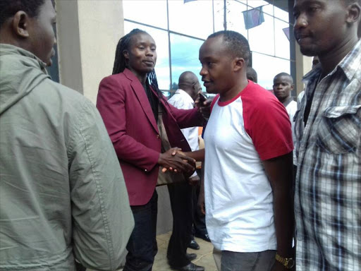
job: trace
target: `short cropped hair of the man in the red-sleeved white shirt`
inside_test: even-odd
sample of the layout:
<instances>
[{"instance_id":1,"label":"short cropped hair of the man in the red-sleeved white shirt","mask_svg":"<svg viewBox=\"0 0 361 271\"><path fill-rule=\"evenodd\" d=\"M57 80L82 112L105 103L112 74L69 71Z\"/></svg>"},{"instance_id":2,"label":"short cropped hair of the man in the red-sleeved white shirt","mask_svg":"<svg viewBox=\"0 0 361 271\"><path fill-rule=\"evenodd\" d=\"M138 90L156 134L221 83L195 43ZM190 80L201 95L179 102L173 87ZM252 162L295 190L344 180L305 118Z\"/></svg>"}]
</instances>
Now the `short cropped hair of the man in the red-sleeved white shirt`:
<instances>
[{"instance_id":1,"label":"short cropped hair of the man in the red-sleeved white shirt","mask_svg":"<svg viewBox=\"0 0 361 271\"><path fill-rule=\"evenodd\" d=\"M250 44L247 39L238 32L231 30L224 30L215 32L209 35L208 38L223 36L224 41L227 44L228 51L234 57L242 57L248 63L250 61L251 50Z\"/></svg>"}]
</instances>

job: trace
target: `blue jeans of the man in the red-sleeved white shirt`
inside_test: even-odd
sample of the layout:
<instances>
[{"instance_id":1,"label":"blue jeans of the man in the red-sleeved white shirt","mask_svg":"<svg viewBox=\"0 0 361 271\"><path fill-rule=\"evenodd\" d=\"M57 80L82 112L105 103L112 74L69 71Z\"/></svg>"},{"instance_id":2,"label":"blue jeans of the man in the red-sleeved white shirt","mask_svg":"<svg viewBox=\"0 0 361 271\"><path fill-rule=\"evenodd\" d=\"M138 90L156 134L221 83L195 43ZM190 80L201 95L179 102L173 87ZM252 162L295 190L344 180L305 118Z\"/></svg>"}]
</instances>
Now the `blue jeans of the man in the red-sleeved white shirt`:
<instances>
[{"instance_id":1,"label":"blue jeans of the man in the red-sleeved white shirt","mask_svg":"<svg viewBox=\"0 0 361 271\"><path fill-rule=\"evenodd\" d=\"M269 271L276 251L241 253L222 251L221 271Z\"/></svg>"}]
</instances>

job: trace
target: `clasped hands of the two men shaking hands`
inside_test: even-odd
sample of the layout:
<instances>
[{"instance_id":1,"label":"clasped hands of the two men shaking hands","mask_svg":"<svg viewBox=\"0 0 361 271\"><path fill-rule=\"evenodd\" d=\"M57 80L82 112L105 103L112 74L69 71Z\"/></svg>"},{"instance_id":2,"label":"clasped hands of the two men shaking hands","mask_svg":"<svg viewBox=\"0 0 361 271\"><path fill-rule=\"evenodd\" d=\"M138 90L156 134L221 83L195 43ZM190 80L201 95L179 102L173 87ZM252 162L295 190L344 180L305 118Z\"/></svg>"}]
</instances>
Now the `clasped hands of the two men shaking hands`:
<instances>
[{"instance_id":1,"label":"clasped hands of the two men shaking hands","mask_svg":"<svg viewBox=\"0 0 361 271\"><path fill-rule=\"evenodd\" d=\"M195 159L182 155L177 151L181 151L178 147L172 147L159 155L158 164L165 169L176 172L195 171Z\"/></svg>"}]
</instances>

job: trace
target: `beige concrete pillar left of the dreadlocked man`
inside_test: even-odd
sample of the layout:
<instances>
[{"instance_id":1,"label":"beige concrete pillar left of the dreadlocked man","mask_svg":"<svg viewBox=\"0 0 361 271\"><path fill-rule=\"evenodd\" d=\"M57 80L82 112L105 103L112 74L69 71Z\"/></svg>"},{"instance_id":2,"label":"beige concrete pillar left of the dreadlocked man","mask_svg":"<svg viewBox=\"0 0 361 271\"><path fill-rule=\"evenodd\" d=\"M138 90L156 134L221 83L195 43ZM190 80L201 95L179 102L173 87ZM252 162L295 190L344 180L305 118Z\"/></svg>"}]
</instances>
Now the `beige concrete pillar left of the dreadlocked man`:
<instances>
[{"instance_id":1,"label":"beige concrete pillar left of the dreadlocked man","mask_svg":"<svg viewBox=\"0 0 361 271\"><path fill-rule=\"evenodd\" d=\"M123 1L56 0L56 13L60 81L95 103L124 35Z\"/></svg>"}]
</instances>

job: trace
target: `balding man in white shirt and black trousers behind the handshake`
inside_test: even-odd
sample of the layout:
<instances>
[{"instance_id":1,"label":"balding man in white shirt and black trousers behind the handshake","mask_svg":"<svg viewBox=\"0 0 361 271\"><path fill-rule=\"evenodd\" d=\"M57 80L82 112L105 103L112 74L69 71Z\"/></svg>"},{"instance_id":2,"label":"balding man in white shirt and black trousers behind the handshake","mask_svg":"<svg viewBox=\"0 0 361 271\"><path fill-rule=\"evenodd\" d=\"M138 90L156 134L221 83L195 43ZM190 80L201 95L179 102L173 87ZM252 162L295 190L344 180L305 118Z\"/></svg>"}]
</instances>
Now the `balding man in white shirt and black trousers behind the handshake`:
<instances>
[{"instance_id":1,"label":"balding man in white shirt and black trousers behind the handshake","mask_svg":"<svg viewBox=\"0 0 361 271\"><path fill-rule=\"evenodd\" d=\"M198 97L198 92L202 90L200 82L191 71L185 71L178 80L178 90L169 99L169 103L178 109L193 109L194 101ZM185 139L188 141L192 151L198 150L198 127L181 129ZM168 247L168 258L170 265L179 265L187 263L184 258L184 252L188 246L194 249L200 249L192 236L192 223L195 215L193 203L194 187L191 184L197 184L200 177L195 171L189 178L189 183L175 183L168 186L169 197L171 198L171 208L173 213L173 232ZM186 203L186 204L185 204ZM204 225L205 228L205 225ZM182 249L181 249L182 248ZM185 253L188 260L197 257L195 253ZM187 265L188 266L188 265ZM203 270L203 267L195 265L195 270Z\"/></svg>"}]
</instances>

